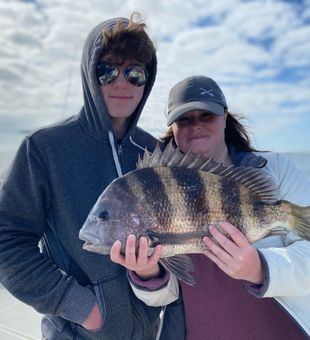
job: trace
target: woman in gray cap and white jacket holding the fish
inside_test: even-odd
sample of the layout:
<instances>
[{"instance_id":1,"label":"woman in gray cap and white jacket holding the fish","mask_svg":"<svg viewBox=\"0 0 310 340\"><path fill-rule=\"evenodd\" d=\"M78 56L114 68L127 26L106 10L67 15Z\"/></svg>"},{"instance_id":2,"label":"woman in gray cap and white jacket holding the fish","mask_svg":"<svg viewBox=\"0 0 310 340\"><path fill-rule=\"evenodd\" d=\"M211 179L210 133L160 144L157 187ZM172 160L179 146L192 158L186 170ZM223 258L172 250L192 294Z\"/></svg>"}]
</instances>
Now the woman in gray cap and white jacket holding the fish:
<instances>
[{"instance_id":1,"label":"woman in gray cap and white jacket holding the fish","mask_svg":"<svg viewBox=\"0 0 310 340\"><path fill-rule=\"evenodd\" d=\"M277 183L279 199L310 205L306 176L284 156L255 150L211 78L192 76L177 83L166 117L164 143L172 139L183 153L261 169ZM171 273L162 275L160 298L152 286L159 273L154 258L144 273L141 263L147 258L141 254L129 266L135 294L149 305L167 305L161 339L309 339L310 242L289 232L251 245L229 221L220 228L209 227L212 237L203 239L204 254L190 255L194 287L178 284Z\"/></svg>"}]
</instances>

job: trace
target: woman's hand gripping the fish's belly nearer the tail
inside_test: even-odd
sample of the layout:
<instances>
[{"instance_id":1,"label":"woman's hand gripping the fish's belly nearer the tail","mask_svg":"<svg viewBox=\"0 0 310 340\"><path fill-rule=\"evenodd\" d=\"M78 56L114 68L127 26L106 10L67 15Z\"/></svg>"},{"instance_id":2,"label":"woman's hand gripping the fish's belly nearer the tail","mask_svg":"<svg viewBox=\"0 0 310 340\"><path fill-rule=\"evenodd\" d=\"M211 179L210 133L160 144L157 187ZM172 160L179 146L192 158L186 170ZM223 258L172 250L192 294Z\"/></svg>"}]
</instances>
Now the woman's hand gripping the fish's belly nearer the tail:
<instances>
[{"instance_id":1,"label":"woman's hand gripping the fish's belly nearer the tail","mask_svg":"<svg viewBox=\"0 0 310 340\"><path fill-rule=\"evenodd\" d=\"M262 265L257 250L232 224L224 222L219 226L223 231L214 225L209 228L216 242L210 237L204 237L203 241L208 248L204 254L233 279L263 283Z\"/></svg>"}]
</instances>

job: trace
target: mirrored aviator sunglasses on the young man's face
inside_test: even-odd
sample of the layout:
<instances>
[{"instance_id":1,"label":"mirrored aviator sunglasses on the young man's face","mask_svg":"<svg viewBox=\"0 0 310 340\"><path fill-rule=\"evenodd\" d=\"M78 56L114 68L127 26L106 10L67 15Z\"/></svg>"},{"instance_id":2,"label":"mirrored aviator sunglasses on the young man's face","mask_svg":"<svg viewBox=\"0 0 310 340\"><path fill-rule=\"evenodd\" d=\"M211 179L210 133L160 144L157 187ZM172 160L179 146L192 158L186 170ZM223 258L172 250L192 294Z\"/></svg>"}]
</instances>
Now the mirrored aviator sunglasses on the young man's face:
<instances>
[{"instance_id":1,"label":"mirrored aviator sunglasses on the young man's face","mask_svg":"<svg viewBox=\"0 0 310 340\"><path fill-rule=\"evenodd\" d=\"M97 66L97 79L101 86L110 84L120 73L120 66L99 64ZM123 68L125 79L134 86L142 86L147 82L148 73L140 65L128 65Z\"/></svg>"}]
</instances>

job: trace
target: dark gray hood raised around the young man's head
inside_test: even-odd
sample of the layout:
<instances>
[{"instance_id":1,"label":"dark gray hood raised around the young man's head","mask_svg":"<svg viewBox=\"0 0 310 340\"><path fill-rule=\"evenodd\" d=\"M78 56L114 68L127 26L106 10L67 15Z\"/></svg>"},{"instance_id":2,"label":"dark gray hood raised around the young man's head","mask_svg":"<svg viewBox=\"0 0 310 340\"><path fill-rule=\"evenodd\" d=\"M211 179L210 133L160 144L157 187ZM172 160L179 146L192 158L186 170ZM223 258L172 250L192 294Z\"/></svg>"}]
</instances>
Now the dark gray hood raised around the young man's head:
<instances>
[{"instance_id":1,"label":"dark gray hood raised around the young man's head","mask_svg":"<svg viewBox=\"0 0 310 340\"><path fill-rule=\"evenodd\" d=\"M107 139L109 131L113 130L108 110L100 91L100 85L96 78L96 66L103 51L102 32L111 29L118 20L121 20L125 25L128 23L128 19L126 18L113 18L94 27L85 40L82 54L81 74L84 106L79 116L87 130L101 140ZM135 129L155 82L157 70L157 58L155 54L150 64L147 65L147 69L149 78L145 84L143 97L136 111L133 113L131 125L123 139L128 138Z\"/></svg>"}]
</instances>

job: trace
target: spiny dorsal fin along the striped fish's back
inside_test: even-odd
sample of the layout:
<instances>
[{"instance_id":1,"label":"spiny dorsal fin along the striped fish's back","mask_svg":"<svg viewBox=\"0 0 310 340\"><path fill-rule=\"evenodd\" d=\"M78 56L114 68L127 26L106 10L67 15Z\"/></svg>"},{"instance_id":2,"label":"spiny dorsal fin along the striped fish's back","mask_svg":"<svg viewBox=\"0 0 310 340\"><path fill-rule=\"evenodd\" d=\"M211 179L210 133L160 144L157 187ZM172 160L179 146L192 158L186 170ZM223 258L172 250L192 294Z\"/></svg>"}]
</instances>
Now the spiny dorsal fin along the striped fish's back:
<instances>
[{"instance_id":1,"label":"spiny dorsal fin along the striped fish's back","mask_svg":"<svg viewBox=\"0 0 310 340\"><path fill-rule=\"evenodd\" d=\"M158 143L152 155L145 150L143 158L138 160L137 169L158 166L206 171L244 185L265 203L273 204L279 200L276 183L265 171L245 166L225 167L212 158L206 159L203 155L196 155L191 151L184 154L174 146L172 140L164 150L161 150Z\"/></svg>"}]
</instances>

